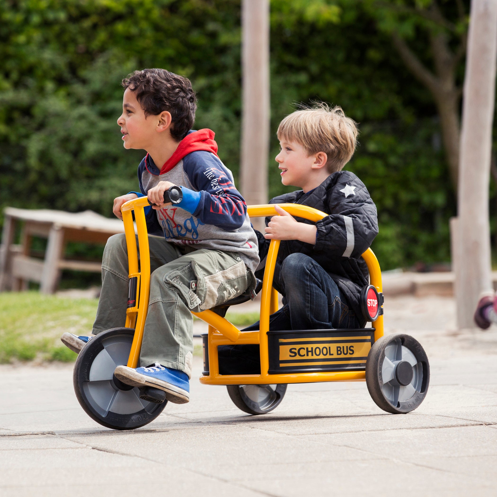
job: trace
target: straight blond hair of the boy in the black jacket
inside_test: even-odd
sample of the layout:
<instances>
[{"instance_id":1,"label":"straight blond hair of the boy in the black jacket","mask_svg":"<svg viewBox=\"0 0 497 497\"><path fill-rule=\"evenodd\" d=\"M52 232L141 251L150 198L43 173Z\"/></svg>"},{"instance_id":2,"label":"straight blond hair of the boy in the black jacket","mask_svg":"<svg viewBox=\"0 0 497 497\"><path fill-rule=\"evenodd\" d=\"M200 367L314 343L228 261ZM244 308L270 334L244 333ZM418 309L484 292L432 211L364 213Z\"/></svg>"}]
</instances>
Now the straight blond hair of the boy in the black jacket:
<instances>
[{"instance_id":1,"label":"straight blond hair of the boy in the black jacket","mask_svg":"<svg viewBox=\"0 0 497 497\"><path fill-rule=\"evenodd\" d=\"M308 156L324 152L330 174L350 161L357 134L356 123L345 116L341 107L331 108L324 102L292 112L280 122L277 132L278 140L299 143Z\"/></svg>"}]
</instances>

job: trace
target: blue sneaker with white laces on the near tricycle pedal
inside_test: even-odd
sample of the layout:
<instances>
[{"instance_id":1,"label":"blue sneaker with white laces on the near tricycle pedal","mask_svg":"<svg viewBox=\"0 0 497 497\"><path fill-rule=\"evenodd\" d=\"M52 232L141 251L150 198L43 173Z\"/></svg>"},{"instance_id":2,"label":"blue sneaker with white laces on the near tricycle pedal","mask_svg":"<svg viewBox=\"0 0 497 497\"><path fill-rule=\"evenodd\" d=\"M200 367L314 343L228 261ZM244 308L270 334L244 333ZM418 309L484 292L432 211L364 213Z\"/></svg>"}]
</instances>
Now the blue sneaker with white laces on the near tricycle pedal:
<instances>
[{"instance_id":1,"label":"blue sneaker with white laces on the near tricycle pedal","mask_svg":"<svg viewBox=\"0 0 497 497\"><path fill-rule=\"evenodd\" d=\"M161 366L158 362L148 368L117 366L116 378L133 387L155 387L166 392L166 399L173 404L186 404L190 401L188 375L177 369Z\"/></svg>"}]
</instances>

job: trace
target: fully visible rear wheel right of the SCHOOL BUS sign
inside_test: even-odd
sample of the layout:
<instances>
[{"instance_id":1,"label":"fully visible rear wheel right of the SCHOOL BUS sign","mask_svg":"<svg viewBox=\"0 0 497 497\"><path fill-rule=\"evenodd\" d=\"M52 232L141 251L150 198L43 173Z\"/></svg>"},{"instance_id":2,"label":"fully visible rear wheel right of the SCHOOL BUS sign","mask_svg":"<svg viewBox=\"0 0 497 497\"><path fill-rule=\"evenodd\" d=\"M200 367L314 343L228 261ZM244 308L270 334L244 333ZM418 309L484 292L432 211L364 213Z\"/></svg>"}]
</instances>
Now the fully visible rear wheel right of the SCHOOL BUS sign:
<instances>
[{"instance_id":1,"label":"fully visible rear wheel right of the SCHOOL BUS sign","mask_svg":"<svg viewBox=\"0 0 497 497\"><path fill-rule=\"evenodd\" d=\"M412 336L383 336L371 347L366 360L366 385L383 411L414 411L426 397L429 381L428 357Z\"/></svg>"}]
</instances>

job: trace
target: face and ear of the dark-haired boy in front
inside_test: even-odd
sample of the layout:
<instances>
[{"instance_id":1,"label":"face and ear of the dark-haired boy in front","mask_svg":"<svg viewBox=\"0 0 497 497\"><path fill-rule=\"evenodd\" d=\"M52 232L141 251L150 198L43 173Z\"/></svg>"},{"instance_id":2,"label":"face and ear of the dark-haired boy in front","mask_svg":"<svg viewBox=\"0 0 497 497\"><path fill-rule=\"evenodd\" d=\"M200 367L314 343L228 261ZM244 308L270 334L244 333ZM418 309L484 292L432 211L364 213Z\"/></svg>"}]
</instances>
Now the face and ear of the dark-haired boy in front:
<instances>
[{"instance_id":1,"label":"face and ear of the dark-haired boy in front","mask_svg":"<svg viewBox=\"0 0 497 497\"><path fill-rule=\"evenodd\" d=\"M157 138L157 132L163 131L164 122L162 112L158 116L149 115L145 117L145 111L140 106L140 102L136 99L134 91L126 88L123 96L123 113L117 120L117 124L121 126L122 140L125 149L145 149L149 150L154 145L154 140ZM166 116L167 118L167 116ZM168 128L167 123L166 128Z\"/></svg>"}]
</instances>

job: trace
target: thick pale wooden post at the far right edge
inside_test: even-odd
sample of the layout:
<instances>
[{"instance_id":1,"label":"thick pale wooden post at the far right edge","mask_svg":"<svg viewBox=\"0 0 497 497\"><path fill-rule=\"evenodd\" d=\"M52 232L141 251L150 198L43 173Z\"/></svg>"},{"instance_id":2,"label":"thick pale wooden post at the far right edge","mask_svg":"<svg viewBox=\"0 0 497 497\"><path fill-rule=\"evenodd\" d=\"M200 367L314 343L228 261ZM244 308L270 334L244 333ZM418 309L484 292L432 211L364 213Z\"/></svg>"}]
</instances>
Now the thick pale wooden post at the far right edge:
<instances>
[{"instance_id":1,"label":"thick pale wooden post at the far right edge","mask_svg":"<svg viewBox=\"0 0 497 497\"><path fill-rule=\"evenodd\" d=\"M456 263L457 325L474 328L492 290L489 181L497 57L497 0L472 0L463 95Z\"/></svg>"}]
</instances>

